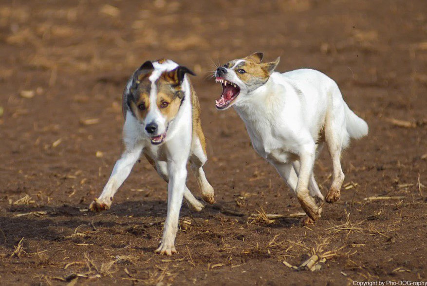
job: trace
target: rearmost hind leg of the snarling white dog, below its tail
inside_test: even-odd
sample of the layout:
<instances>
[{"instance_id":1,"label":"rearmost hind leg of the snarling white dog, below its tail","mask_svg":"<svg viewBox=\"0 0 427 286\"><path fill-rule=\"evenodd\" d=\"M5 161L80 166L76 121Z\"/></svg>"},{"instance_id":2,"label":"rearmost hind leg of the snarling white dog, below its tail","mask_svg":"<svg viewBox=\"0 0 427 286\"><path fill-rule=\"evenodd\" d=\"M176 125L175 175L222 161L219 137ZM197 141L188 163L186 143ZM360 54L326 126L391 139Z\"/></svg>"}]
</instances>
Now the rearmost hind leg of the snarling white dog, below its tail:
<instances>
[{"instance_id":1,"label":"rearmost hind leg of the snarling white dog, below its tail","mask_svg":"<svg viewBox=\"0 0 427 286\"><path fill-rule=\"evenodd\" d=\"M325 124L325 139L326 145L328 147L329 154L332 158L333 165L333 177L332 177L332 185L326 194L326 201L328 203L334 203L339 200L341 194L341 186L344 182L344 173L341 168L341 150L343 143L345 141L344 136L347 134L346 132L340 131L340 122L345 120L340 114L333 114L332 116L327 116L326 124ZM331 117L335 118L331 118Z\"/></svg>"}]
</instances>

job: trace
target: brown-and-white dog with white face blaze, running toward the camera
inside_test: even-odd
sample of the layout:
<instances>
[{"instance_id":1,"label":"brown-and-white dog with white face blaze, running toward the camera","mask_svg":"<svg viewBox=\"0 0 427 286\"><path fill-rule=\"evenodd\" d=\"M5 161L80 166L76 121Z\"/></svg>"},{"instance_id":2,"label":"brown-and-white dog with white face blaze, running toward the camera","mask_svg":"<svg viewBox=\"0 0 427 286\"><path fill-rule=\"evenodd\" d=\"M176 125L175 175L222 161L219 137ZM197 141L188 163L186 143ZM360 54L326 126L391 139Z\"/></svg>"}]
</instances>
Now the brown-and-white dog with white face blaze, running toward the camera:
<instances>
[{"instance_id":1,"label":"brown-and-white dog with white face blaze, running toward the camera","mask_svg":"<svg viewBox=\"0 0 427 286\"><path fill-rule=\"evenodd\" d=\"M200 211L199 202L186 187L186 164L191 163L204 201L214 202L214 190L202 169L207 160L200 106L184 66L161 59L147 61L130 77L123 93L123 141L125 152L117 160L101 195L90 205L100 211L111 207L117 189L144 153L168 182L167 217L156 252L176 252L175 237L183 196L189 207Z\"/></svg>"}]
</instances>

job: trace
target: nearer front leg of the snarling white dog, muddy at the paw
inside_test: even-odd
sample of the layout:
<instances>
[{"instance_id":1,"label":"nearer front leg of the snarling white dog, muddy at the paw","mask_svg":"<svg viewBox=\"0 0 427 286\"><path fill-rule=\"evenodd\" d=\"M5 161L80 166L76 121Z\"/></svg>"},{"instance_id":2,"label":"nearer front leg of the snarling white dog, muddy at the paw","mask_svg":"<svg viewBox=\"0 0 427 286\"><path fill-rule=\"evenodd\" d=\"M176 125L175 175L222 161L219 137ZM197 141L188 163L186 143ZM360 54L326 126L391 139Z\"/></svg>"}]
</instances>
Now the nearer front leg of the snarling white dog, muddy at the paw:
<instances>
[{"instance_id":1,"label":"nearer front leg of the snarling white dog, muddy at the paw","mask_svg":"<svg viewBox=\"0 0 427 286\"><path fill-rule=\"evenodd\" d=\"M297 183L297 198L301 207L307 213L307 215L314 221L320 218L321 208L319 208L310 195L308 190L308 184L310 177L313 172L313 166L315 161L315 147L312 144L304 146L303 151L299 154L300 166Z\"/></svg>"}]
</instances>

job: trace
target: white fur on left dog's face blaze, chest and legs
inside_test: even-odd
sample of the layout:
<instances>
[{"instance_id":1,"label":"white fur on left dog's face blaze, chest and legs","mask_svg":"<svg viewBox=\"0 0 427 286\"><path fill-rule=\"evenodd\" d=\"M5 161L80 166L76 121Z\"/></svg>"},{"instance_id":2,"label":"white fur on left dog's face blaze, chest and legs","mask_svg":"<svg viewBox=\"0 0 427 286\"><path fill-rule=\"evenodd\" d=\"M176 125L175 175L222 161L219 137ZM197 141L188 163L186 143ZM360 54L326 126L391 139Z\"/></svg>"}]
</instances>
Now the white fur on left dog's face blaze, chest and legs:
<instances>
[{"instance_id":1,"label":"white fur on left dog's face blaze, chest and legs","mask_svg":"<svg viewBox=\"0 0 427 286\"><path fill-rule=\"evenodd\" d=\"M167 60L163 64L158 62L153 63L154 71L149 80L152 82L150 94L151 104L149 114L145 118L145 122L155 121L159 128L163 124L163 133L165 131L165 118L158 111L156 102L157 92L154 82L164 71L171 71L178 65L171 60ZM127 85L129 89L130 84ZM167 187L167 217L164 226L163 238L157 252L171 255L176 252L174 242L178 230L179 211L183 196L186 197L189 206L193 210L201 210L203 205L191 194L186 187L186 163L190 156L200 158L197 164L197 170L202 169L206 161L206 156L199 153L192 154L190 151L192 144L192 106L191 106L191 89L188 79L185 77L182 83L182 90L185 93L183 101L177 115L169 123L165 142L160 145L153 145L149 139L149 135L145 131L145 123L136 119L130 111L127 111L126 121L123 127L123 141L125 143L125 152L122 157L117 160L114 169L111 173L104 190L97 199L99 204L104 204L108 208L111 206L111 201L117 189L122 185L124 180L130 174L130 171L138 160L142 152L147 153L154 159L156 169L159 175L168 181ZM195 142L193 144L199 144ZM197 149L197 148L196 148ZM203 172L203 170L202 170ZM196 174L198 181L203 183L203 187L212 189L204 177L204 173ZM209 190L210 190L209 189ZM213 189L212 189L213 190ZM95 201L96 202L96 201ZM91 205L92 206L92 205Z\"/></svg>"}]
</instances>

